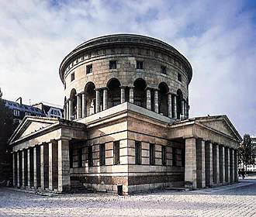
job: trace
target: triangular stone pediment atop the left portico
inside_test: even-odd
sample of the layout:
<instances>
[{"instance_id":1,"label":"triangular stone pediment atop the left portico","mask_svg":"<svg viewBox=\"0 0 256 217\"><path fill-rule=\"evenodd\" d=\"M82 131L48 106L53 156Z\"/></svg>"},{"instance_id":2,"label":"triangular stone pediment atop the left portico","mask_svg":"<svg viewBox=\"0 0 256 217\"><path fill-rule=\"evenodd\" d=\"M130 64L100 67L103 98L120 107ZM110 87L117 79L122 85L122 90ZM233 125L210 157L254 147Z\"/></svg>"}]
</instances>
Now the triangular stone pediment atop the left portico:
<instances>
[{"instance_id":1,"label":"triangular stone pediment atop the left portico","mask_svg":"<svg viewBox=\"0 0 256 217\"><path fill-rule=\"evenodd\" d=\"M12 134L9 143L13 143L25 136L29 136L32 133L43 130L57 121L57 119L27 116L22 120L16 131Z\"/></svg>"}]
</instances>

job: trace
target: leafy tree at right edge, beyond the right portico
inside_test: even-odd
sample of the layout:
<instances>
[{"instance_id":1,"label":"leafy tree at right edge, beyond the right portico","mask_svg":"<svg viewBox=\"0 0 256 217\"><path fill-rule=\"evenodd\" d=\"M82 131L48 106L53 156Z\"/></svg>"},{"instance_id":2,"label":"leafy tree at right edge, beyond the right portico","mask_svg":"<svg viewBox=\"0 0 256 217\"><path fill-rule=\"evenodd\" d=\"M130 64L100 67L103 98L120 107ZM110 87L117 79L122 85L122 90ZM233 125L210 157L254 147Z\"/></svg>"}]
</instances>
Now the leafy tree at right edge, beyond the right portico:
<instances>
[{"instance_id":1,"label":"leafy tree at right edge, beyond the right portico","mask_svg":"<svg viewBox=\"0 0 256 217\"><path fill-rule=\"evenodd\" d=\"M251 137L249 134L244 134L243 143L238 148L239 164L245 165L247 171L247 165L254 164L254 146L251 143Z\"/></svg>"}]
</instances>

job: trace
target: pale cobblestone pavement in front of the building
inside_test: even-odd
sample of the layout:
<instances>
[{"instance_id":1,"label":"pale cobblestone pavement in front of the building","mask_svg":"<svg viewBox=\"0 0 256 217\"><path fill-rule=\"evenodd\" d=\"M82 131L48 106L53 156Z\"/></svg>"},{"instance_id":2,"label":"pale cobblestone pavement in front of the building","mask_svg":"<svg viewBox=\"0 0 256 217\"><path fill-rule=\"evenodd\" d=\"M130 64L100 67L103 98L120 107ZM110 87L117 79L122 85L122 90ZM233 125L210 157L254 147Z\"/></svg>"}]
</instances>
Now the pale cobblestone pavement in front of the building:
<instances>
[{"instance_id":1,"label":"pale cobblestone pavement in front of the building","mask_svg":"<svg viewBox=\"0 0 256 217\"><path fill-rule=\"evenodd\" d=\"M256 216L256 179L205 190L124 197L42 196L0 188L0 216Z\"/></svg>"}]
</instances>

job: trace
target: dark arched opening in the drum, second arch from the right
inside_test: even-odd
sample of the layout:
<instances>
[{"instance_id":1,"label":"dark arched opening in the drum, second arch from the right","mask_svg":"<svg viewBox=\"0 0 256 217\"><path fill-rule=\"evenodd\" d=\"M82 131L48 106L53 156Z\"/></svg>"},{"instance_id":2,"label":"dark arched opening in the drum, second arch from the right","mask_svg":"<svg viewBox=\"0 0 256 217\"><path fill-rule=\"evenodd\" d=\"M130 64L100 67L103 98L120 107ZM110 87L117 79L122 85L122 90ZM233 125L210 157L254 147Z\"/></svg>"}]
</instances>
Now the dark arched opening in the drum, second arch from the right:
<instances>
[{"instance_id":1,"label":"dark arched opening in the drum, second arch from the right","mask_svg":"<svg viewBox=\"0 0 256 217\"><path fill-rule=\"evenodd\" d=\"M168 85L164 82L161 82L158 86L159 95L158 95L158 105L159 105L159 113L164 116L168 116Z\"/></svg>"}]
</instances>

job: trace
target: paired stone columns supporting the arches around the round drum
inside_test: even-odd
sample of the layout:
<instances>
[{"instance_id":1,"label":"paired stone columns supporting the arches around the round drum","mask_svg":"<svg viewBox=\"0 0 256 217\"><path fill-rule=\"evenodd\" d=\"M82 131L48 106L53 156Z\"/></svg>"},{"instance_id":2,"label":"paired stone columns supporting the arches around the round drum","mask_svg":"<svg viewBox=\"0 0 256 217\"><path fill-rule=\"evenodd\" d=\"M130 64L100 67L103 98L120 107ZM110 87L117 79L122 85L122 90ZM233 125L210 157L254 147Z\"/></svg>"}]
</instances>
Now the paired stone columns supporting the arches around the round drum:
<instances>
[{"instance_id":1,"label":"paired stone columns supporting the arches around the round drum","mask_svg":"<svg viewBox=\"0 0 256 217\"><path fill-rule=\"evenodd\" d=\"M130 85L128 87L120 86L120 103L126 102L126 88L129 88L129 102L134 102L134 86ZM95 88L95 112L101 112L108 108L108 91L109 88ZM154 92L154 97L152 98L151 92ZM158 88L146 88L146 108L148 110L159 113L159 89ZM87 117L87 93L82 91L76 95L77 97L77 111L76 119L81 119ZM71 98L68 98L64 105L64 118L71 120L71 116L74 113L73 103ZM154 102L154 103L152 103ZM167 110L168 117L172 119L189 119L189 104L185 99L181 99L180 108L177 104L177 95L175 93L167 93ZM152 108L153 107L153 108ZM179 114L179 117L178 117Z\"/></svg>"}]
</instances>

